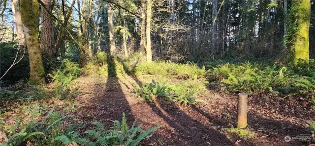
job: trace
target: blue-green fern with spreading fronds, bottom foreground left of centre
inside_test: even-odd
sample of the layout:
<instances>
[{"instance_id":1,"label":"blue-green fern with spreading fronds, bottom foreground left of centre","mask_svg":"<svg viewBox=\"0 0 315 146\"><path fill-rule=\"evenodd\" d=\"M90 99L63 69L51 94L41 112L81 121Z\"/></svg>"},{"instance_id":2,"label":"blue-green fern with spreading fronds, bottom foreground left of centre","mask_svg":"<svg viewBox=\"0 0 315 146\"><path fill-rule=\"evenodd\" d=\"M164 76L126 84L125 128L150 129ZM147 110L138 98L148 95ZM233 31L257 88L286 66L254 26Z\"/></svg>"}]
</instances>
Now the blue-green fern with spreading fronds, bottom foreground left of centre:
<instances>
[{"instance_id":1,"label":"blue-green fern with spreading fronds, bottom foreground left of centre","mask_svg":"<svg viewBox=\"0 0 315 146\"><path fill-rule=\"evenodd\" d=\"M141 125L135 127L133 122L129 128L126 115L123 113L122 122L115 121L114 129L106 130L101 122L93 122L95 129L85 131L88 140L82 143L84 146L137 146L145 138L152 136L152 132L159 128L153 127L147 131L141 129Z\"/></svg>"}]
</instances>

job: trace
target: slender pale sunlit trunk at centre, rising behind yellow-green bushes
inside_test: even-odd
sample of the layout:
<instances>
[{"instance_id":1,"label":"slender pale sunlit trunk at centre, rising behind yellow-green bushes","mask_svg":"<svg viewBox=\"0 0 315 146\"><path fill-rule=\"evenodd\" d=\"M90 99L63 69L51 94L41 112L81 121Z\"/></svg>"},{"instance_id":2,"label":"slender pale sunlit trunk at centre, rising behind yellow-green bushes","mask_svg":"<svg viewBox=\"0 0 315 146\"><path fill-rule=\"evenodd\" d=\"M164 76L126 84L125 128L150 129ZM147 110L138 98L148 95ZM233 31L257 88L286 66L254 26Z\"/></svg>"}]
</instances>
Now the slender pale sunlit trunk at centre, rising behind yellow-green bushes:
<instances>
[{"instance_id":1,"label":"slender pale sunlit trunk at centre, rising behind yellow-green bushes","mask_svg":"<svg viewBox=\"0 0 315 146\"><path fill-rule=\"evenodd\" d=\"M152 0L148 0L147 3L147 62L152 62L152 52L151 52L151 13L152 13Z\"/></svg>"}]
</instances>

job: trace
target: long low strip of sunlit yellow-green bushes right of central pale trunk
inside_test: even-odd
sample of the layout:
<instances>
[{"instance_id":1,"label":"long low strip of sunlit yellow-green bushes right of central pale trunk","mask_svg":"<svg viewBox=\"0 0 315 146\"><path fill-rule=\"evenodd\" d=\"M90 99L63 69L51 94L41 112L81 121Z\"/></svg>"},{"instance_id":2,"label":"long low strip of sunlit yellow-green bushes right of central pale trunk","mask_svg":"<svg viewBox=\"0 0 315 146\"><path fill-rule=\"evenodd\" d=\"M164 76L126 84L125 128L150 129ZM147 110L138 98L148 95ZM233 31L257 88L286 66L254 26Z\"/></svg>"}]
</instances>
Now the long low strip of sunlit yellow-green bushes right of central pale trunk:
<instances>
[{"instance_id":1,"label":"long low strip of sunlit yellow-green bushes right of central pale trunk","mask_svg":"<svg viewBox=\"0 0 315 146\"><path fill-rule=\"evenodd\" d=\"M205 68L196 64L180 64L174 62L142 63L136 67L136 74L171 75L178 78L204 78Z\"/></svg>"}]
</instances>

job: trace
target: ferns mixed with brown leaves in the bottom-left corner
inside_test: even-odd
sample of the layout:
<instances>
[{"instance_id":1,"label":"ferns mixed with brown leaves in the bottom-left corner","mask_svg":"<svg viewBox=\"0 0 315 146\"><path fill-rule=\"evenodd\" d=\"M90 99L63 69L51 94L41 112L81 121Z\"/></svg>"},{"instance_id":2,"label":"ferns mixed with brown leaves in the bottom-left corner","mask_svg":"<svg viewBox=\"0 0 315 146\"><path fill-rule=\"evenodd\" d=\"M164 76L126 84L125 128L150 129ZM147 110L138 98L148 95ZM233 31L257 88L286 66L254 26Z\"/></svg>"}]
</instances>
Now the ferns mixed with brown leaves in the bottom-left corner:
<instances>
[{"instance_id":1,"label":"ferns mixed with brown leaves in the bottom-left corner","mask_svg":"<svg viewBox=\"0 0 315 146\"><path fill-rule=\"evenodd\" d=\"M70 124L66 130L62 130L63 120L69 116L61 117L59 112L50 111L43 120L35 120L24 124L20 119L8 131L8 141L0 144L0 146L20 146L27 142L38 146L60 146L61 144L67 144L66 141L60 141L61 138L71 142L80 140L77 138L78 133L74 132L75 125Z\"/></svg>"}]
</instances>

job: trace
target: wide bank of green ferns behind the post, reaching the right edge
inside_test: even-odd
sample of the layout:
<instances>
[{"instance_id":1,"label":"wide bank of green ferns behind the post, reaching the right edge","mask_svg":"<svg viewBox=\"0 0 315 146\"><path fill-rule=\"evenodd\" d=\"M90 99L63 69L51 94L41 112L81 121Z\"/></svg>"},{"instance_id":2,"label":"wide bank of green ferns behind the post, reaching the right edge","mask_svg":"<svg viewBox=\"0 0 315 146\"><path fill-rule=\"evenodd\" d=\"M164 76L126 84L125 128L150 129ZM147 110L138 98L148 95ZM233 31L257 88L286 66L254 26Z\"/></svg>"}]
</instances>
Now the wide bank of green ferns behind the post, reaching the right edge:
<instances>
[{"instance_id":1,"label":"wide bank of green ferns behind the post, reaching the right edge","mask_svg":"<svg viewBox=\"0 0 315 146\"><path fill-rule=\"evenodd\" d=\"M304 72L305 73L305 72ZM308 71L312 75L314 73ZM229 92L247 92L259 94L272 92L286 96L314 95L314 76L303 76L293 69L273 65L264 67L261 64L224 64L208 72L210 78L221 82Z\"/></svg>"}]
</instances>

